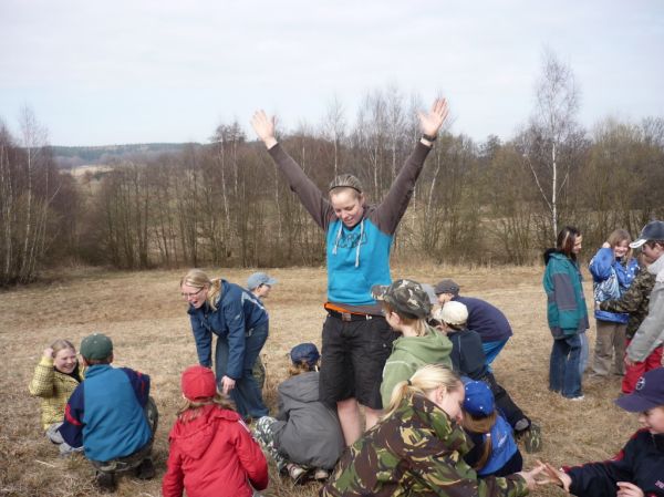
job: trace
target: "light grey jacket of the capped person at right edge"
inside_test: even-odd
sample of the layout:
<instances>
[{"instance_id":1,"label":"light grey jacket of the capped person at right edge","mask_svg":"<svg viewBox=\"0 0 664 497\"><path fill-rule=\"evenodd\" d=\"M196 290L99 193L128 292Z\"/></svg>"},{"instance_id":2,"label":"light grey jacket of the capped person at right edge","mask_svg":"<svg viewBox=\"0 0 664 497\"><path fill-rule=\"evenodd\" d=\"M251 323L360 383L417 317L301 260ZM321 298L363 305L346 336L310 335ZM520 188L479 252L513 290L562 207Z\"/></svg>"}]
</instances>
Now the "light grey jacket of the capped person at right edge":
<instances>
[{"instance_id":1,"label":"light grey jacket of the capped person at right edge","mask_svg":"<svg viewBox=\"0 0 664 497\"><path fill-rule=\"evenodd\" d=\"M643 362L664 343L664 256L647 267L655 276L655 286L650 296L647 315L634 333L627 346L627 356L634 362Z\"/></svg>"}]
</instances>

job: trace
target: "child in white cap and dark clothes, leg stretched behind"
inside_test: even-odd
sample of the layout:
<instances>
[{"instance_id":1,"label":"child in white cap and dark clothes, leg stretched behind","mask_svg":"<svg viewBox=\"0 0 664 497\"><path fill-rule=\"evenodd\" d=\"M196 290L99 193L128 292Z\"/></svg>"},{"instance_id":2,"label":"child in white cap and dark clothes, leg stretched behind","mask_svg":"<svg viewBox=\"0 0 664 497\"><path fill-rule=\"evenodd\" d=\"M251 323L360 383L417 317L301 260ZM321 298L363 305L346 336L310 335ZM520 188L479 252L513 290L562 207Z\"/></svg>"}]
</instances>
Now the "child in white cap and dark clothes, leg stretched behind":
<instances>
[{"instance_id":1,"label":"child in white cap and dark clothes, leg stretched behind","mask_svg":"<svg viewBox=\"0 0 664 497\"><path fill-rule=\"evenodd\" d=\"M526 451L539 452L542 445L541 428L523 414L487 366L479 334L467 328L466 306L456 301L447 302L436 311L434 318L439 323L437 329L447 334L452 342L450 359L454 371L461 376L486 383L491 390L498 410L513 428L517 437L523 441Z\"/></svg>"}]
</instances>

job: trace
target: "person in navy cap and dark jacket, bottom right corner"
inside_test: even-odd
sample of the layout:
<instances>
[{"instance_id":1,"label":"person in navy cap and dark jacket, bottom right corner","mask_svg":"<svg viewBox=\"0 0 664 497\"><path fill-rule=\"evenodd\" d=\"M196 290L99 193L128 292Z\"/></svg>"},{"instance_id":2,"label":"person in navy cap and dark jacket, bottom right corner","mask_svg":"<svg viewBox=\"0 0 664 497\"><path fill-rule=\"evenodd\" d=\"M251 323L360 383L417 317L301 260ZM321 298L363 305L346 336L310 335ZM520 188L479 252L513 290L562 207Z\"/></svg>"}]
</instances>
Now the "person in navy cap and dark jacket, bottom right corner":
<instances>
[{"instance_id":1,"label":"person in navy cap and dark jacket, bottom right corner","mask_svg":"<svg viewBox=\"0 0 664 497\"><path fill-rule=\"evenodd\" d=\"M550 483L579 497L664 497L664 367L645 373L636 389L615 403L639 413L639 429L614 457L556 469Z\"/></svg>"}]
</instances>

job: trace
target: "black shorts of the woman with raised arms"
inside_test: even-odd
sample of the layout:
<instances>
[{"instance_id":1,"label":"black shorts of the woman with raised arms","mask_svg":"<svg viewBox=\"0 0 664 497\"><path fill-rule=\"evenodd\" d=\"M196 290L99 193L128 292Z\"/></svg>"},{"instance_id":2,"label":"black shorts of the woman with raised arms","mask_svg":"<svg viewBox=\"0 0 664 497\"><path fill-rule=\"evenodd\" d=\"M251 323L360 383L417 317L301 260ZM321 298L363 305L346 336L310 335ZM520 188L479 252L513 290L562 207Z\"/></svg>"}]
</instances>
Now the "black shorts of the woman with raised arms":
<instances>
[{"instance_id":1,"label":"black shorts of the woman with raised arms","mask_svg":"<svg viewBox=\"0 0 664 497\"><path fill-rule=\"evenodd\" d=\"M360 321L328 315L323 324L320 400L334 405L354 397L366 407L383 408L383 367L397 336L380 315Z\"/></svg>"}]
</instances>

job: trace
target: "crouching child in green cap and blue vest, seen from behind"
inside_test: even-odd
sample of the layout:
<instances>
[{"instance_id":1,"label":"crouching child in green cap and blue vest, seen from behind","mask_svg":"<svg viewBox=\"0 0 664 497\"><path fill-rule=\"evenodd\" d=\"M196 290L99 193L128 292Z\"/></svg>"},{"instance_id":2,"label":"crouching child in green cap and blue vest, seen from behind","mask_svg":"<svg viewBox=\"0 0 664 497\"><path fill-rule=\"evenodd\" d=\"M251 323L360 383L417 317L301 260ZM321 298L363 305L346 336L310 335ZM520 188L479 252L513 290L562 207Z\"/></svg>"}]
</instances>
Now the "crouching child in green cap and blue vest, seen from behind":
<instances>
[{"instance_id":1,"label":"crouching child in green cap and blue vest, seen from behind","mask_svg":"<svg viewBox=\"0 0 664 497\"><path fill-rule=\"evenodd\" d=\"M113 342L94 333L81 342L85 380L72 393L60 427L72 447L83 447L104 490L117 486L116 474L133 470L141 479L155 476L151 458L157 408L149 397L149 376L113 367Z\"/></svg>"}]
</instances>

